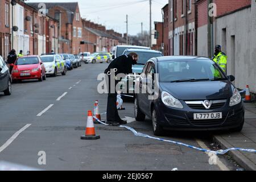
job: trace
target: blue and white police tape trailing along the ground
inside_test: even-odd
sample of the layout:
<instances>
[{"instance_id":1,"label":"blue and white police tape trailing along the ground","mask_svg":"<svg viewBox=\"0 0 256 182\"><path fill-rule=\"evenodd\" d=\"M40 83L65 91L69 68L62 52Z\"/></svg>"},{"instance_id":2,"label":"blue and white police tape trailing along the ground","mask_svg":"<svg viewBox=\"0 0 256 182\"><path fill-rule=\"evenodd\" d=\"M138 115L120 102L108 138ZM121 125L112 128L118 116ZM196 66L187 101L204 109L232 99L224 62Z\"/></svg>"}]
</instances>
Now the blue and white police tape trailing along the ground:
<instances>
[{"instance_id":1,"label":"blue and white police tape trailing along the ground","mask_svg":"<svg viewBox=\"0 0 256 182\"><path fill-rule=\"evenodd\" d=\"M110 125L108 125L108 124L106 124L104 122L101 122L100 119L97 119L96 117L94 117L94 119L96 119L96 121L100 122L102 125L110 126ZM193 148L195 150L199 150L199 151L202 151L202 152L213 153L213 154L216 154L216 155L224 155L224 154L228 153L229 151L234 151L234 150L243 151L243 152L256 152L256 150L254 150L254 149L245 149L245 148L229 148L227 150L211 151L211 150L207 150L207 149L204 149L204 148L194 147L194 146L191 146L189 144L185 144L185 143L181 143L181 142L175 142L175 141L172 141L172 140L151 137L150 135L146 135L146 134L143 134L143 133L138 133L136 130L134 130L133 128L131 128L129 126L121 125L119 127L124 127L127 130L130 130L137 137L144 137L144 138L150 138L150 139L159 140L159 141L162 141L162 142L173 143L173 144L177 144L177 145L180 145L180 146L185 146L185 147L188 147L188 148Z\"/></svg>"}]
</instances>

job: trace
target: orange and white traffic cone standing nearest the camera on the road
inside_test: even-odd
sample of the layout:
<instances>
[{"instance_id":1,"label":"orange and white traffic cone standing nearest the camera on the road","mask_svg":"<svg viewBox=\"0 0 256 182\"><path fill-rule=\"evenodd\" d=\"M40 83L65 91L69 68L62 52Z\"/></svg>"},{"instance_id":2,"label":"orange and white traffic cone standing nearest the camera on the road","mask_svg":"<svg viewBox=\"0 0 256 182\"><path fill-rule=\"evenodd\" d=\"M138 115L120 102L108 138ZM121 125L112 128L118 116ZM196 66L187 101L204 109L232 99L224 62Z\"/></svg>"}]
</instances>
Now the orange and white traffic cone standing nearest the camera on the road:
<instances>
[{"instance_id":1,"label":"orange and white traffic cone standing nearest the camera on the road","mask_svg":"<svg viewBox=\"0 0 256 182\"><path fill-rule=\"evenodd\" d=\"M87 126L85 130L85 135L81 137L82 140L96 140L100 139L100 136L96 136L95 128L93 125L93 115L92 111L88 111L87 115Z\"/></svg>"}]
</instances>

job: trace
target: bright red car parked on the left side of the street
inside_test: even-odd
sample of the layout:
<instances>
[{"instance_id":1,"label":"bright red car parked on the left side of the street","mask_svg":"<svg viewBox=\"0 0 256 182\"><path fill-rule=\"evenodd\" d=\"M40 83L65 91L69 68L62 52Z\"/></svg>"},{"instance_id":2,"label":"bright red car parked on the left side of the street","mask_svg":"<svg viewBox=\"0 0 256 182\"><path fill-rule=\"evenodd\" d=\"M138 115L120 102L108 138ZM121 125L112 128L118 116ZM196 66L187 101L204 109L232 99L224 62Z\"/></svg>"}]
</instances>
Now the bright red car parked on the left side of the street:
<instances>
[{"instance_id":1,"label":"bright red car parked on the left side of the street","mask_svg":"<svg viewBox=\"0 0 256 182\"><path fill-rule=\"evenodd\" d=\"M13 81L38 79L46 80L46 68L39 56L19 57L14 65L12 72Z\"/></svg>"}]
</instances>

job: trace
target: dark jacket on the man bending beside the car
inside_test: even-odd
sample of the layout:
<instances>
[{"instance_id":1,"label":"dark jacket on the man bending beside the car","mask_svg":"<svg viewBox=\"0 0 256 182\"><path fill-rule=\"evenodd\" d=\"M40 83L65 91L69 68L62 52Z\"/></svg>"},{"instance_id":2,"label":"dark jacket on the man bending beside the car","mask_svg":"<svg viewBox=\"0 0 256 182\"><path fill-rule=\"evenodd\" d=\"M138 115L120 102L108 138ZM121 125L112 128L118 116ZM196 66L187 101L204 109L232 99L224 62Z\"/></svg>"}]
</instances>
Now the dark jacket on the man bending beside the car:
<instances>
[{"instance_id":1,"label":"dark jacket on the man bending beside the car","mask_svg":"<svg viewBox=\"0 0 256 182\"><path fill-rule=\"evenodd\" d=\"M109 67L105 70L105 74L107 74L110 69L117 69L117 72L115 72L115 75L118 75L119 73L124 73L128 75L129 73L133 73L133 57L129 55L122 55L118 56L116 59L114 59L110 64Z\"/></svg>"}]
</instances>

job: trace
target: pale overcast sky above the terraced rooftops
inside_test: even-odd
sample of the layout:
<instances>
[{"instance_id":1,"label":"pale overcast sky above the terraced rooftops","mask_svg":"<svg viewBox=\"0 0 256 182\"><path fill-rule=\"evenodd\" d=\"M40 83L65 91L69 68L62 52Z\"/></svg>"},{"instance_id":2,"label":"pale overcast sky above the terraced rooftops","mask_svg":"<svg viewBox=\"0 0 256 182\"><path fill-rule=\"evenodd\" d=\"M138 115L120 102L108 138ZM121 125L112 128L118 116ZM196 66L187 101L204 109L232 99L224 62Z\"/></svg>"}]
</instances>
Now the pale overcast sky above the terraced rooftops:
<instances>
[{"instance_id":1,"label":"pale overcast sky above the terraced rooftops","mask_svg":"<svg viewBox=\"0 0 256 182\"><path fill-rule=\"evenodd\" d=\"M27 2L79 2L82 18L126 33L126 14L128 15L128 34L137 35L150 30L150 3L149 0L28 0ZM162 22L162 7L168 0L152 0L152 28L154 22Z\"/></svg>"}]
</instances>

